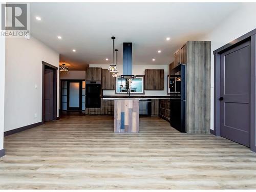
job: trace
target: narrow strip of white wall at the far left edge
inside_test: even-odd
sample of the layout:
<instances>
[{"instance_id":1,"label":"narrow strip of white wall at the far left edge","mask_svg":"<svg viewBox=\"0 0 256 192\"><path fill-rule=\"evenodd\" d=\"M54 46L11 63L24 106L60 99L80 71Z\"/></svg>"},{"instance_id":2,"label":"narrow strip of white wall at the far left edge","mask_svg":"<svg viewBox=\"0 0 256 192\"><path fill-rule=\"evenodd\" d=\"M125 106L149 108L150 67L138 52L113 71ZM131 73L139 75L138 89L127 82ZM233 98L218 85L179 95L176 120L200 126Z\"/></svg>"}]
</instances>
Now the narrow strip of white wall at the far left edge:
<instances>
[{"instance_id":1,"label":"narrow strip of white wall at the far left edge","mask_svg":"<svg viewBox=\"0 0 256 192\"><path fill-rule=\"evenodd\" d=\"M1 18L0 10L0 20ZM5 115L5 38L0 37L0 150L4 148L4 115Z\"/></svg>"}]
</instances>

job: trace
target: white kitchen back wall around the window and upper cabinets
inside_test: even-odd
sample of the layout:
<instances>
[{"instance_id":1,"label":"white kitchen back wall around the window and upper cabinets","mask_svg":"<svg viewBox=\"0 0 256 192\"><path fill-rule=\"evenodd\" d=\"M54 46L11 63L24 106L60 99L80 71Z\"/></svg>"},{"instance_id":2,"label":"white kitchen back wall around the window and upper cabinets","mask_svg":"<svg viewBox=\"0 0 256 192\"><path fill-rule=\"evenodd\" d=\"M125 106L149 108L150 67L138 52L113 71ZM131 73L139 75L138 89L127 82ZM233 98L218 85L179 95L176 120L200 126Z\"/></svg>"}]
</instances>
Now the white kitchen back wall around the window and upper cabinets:
<instances>
[{"instance_id":1,"label":"white kitchen back wall around the window and upper cabinets","mask_svg":"<svg viewBox=\"0 0 256 192\"><path fill-rule=\"evenodd\" d=\"M90 64L90 67L101 67L108 69L109 66L105 64ZM164 70L164 90L151 91L145 90L145 96L167 96L167 75L168 65L133 65L133 75L145 75L145 69L163 69ZM117 65L119 74L123 74L123 65ZM103 90L103 95L115 95L115 90ZM117 95L117 94L116 94ZM139 95L138 95L139 96Z\"/></svg>"}]
</instances>

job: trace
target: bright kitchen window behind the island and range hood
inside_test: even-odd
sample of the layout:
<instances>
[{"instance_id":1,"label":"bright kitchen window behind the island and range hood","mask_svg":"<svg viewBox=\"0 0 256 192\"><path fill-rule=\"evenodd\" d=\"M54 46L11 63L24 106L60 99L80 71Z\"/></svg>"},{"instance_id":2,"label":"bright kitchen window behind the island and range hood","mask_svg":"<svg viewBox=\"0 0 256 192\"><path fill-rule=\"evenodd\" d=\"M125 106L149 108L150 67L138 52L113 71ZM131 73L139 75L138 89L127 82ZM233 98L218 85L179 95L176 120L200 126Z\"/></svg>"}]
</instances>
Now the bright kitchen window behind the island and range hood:
<instances>
[{"instance_id":1,"label":"bright kitchen window behind the island and range hood","mask_svg":"<svg viewBox=\"0 0 256 192\"><path fill-rule=\"evenodd\" d=\"M116 93L127 94L125 79L116 78ZM131 82L131 94L144 94L144 76L136 76Z\"/></svg>"}]
</instances>

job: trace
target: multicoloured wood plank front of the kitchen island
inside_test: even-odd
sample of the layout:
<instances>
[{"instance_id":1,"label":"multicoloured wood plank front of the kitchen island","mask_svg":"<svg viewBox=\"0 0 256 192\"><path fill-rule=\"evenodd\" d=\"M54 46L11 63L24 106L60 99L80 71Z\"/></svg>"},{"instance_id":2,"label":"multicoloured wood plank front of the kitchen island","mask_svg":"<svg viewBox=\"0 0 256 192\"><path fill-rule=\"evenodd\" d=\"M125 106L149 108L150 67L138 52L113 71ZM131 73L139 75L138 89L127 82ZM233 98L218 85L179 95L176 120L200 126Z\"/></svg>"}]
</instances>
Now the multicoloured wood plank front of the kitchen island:
<instances>
[{"instance_id":1,"label":"multicoloured wood plank front of the kitchen island","mask_svg":"<svg viewBox=\"0 0 256 192\"><path fill-rule=\"evenodd\" d=\"M115 133L139 133L139 100L115 100Z\"/></svg>"}]
</instances>

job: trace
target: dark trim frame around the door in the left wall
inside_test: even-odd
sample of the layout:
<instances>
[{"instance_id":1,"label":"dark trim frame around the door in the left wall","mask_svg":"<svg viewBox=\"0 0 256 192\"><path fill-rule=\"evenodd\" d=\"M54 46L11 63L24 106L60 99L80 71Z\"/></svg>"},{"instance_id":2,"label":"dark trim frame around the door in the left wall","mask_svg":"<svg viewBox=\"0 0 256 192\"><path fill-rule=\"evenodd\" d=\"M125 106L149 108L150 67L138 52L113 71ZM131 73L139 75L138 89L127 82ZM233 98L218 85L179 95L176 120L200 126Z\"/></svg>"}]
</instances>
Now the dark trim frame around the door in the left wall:
<instances>
[{"instance_id":1,"label":"dark trim frame around the door in the left wall","mask_svg":"<svg viewBox=\"0 0 256 192\"><path fill-rule=\"evenodd\" d=\"M53 70L53 120L57 119L57 76L58 68L42 61L42 123L45 122L45 68L50 68Z\"/></svg>"}]
</instances>

